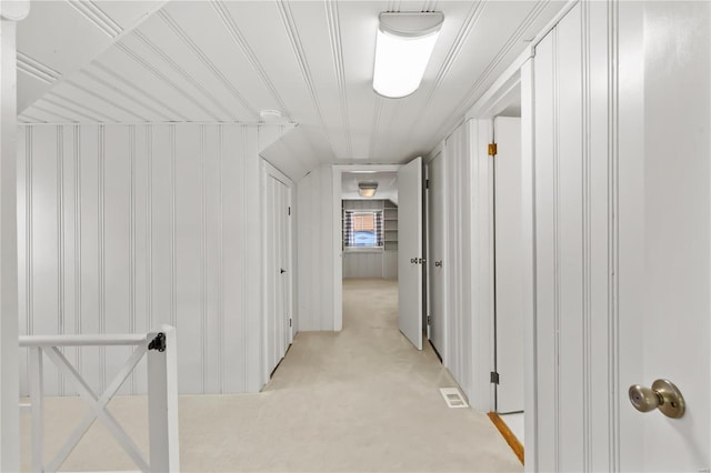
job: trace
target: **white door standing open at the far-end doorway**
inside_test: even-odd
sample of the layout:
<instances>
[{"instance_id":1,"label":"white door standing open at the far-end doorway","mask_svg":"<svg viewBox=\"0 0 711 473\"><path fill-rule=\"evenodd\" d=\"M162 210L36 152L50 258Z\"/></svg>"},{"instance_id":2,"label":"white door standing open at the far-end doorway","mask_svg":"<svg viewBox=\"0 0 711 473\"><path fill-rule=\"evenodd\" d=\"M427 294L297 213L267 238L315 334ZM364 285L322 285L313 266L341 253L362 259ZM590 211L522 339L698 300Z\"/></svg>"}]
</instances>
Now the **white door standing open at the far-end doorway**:
<instances>
[{"instance_id":1,"label":"white door standing open at the far-end doorway","mask_svg":"<svg viewBox=\"0 0 711 473\"><path fill-rule=\"evenodd\" d=\"M422 158L398 170L398 325L422 350Z\"/></svg>"}]
</instances>

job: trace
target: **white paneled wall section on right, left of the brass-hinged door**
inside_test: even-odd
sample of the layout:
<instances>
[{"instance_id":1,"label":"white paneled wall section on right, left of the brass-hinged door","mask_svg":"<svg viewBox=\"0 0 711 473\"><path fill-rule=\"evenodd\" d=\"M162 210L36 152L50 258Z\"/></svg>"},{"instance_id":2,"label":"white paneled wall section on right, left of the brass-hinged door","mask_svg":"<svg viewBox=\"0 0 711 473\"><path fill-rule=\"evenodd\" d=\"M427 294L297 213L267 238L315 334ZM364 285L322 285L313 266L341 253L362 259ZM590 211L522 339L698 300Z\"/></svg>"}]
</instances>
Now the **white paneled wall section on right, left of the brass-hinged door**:
<instances>
[{"instance_id":1,"label":"white paneled wall section on right, left of the brass-hinged door","mask_svg":"<svg viewBox=\"0 0 711 473\"><path fill-rule=\"evenodd\" d=\"M469 120L444 145L443 271L448 285L444 362L472 407L492 409L493 188L488 120Z\"/></svg>"}]
</instances>

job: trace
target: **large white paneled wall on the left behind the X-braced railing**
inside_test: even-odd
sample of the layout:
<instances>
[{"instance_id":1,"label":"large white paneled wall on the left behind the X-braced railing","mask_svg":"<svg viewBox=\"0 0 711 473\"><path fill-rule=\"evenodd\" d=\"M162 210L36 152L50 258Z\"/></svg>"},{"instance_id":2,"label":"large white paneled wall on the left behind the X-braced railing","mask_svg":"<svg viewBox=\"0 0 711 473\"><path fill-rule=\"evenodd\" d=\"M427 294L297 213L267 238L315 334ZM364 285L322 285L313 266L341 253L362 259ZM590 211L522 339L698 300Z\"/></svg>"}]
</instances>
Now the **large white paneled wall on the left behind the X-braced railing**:
<instances>
[{"instance_id":1,"label":"large white paneled wall on the left behind the X-braced railing","mask_svg":"<svg viewBox=\"0 0 711 473\"><path fill-rule=\"evenodd\" d=\"M260 133L274 138L237 124L20 127L21 333L170 323L180 392L259 390ZM67 350L98 390L127 354ZM48 393L70 388L48 374ZM139 372L123 393L144 389Z\"/></svg>"}]
</instances>

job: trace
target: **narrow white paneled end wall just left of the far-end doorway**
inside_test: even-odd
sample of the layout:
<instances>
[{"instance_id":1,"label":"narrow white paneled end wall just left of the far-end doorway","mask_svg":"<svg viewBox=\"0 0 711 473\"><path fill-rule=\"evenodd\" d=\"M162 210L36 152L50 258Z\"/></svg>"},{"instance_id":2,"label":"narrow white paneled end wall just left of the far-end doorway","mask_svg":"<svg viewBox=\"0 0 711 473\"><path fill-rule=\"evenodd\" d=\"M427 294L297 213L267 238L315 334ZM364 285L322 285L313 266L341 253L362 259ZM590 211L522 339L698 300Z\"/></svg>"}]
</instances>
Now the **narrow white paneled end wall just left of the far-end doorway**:
<instances>
[{"instance_id":1,"label":"narrow white paneled end wall just left of the far-end doorway","mask_svg":"<svg viewBox=\"0 0 711 473\"><path fill-rule=\"evenodd\" d=\"M299 331L333 330L333 173L316 168L297 183Z\"/></svg>"}]
</instances>

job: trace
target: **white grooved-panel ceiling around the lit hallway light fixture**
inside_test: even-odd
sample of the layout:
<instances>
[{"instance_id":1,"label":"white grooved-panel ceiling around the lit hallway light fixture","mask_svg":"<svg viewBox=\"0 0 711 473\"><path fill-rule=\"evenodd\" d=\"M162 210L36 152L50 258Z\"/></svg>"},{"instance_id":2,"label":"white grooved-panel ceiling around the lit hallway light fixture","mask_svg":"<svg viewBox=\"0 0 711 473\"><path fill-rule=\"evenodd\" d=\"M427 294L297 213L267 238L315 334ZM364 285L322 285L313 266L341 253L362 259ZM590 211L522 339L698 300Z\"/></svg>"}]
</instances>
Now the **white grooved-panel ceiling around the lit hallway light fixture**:
<instances>
[{"instance_id":1,"label":"white grooved-panel ceiling around the lit hallway light fixture","mask_svg":"<svg viewBox=\"0 0 711 473\"><path fill-rule=\"evenodd\" d=\"M263 151L321 163L429 152L564 1L40 1L18 26L22 122L298 124ZM442 11L420 89L372 91L378 13Z\"/></svg>"}]
</instances>

